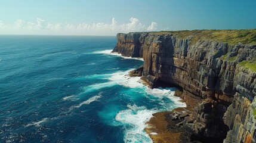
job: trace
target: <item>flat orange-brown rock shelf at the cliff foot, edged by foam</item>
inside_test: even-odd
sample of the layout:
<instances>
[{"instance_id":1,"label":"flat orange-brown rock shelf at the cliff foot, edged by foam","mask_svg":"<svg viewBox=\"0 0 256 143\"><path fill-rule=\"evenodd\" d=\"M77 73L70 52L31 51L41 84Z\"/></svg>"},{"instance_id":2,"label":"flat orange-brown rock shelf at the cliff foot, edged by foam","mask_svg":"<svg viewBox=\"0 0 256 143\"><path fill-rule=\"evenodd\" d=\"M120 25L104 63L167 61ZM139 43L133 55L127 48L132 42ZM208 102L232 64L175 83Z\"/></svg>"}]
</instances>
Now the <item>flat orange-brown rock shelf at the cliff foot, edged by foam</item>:
<instances>
[{"instance_id":1,"label":"flat orange-brown rock shelf at the cliff foot, edged by foam","mask_svg":"<svg viewBox=\"0 0 256 143\"><path fill-rule=\"evenodd\" d=\"M186 97L187 107L174 108L172 111L162 111L153 114L147 122L145 131L153 142L180 143L180 142L220 142L218 139L202 139L188 132L186 124L193 124L193 113L196 105L202 102L200 98L187 97L182 91L176 91L175 96Z\"/></svg>"}]
</instances>

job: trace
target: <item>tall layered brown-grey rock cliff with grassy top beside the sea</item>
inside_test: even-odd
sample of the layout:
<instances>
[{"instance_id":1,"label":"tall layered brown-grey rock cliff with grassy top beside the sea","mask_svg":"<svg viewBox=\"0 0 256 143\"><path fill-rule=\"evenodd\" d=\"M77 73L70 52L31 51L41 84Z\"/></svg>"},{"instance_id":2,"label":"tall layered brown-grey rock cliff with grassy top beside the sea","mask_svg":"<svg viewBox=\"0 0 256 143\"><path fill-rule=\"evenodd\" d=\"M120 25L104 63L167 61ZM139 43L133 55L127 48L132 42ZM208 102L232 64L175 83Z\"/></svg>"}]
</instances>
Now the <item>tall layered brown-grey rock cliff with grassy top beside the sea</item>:
<instances>
[{"instance_id":1,"label":"tall layered brown-grey rock cliff with grassy top beside the sea","mask_svg":"<svg viewBox=\"0 0 256 143\"><path fill-rule=\"evenodd\" d=\"M143 57L152 87L180 86L187 105L201 98L183 122L195 140L256 142L256 30L227 31L119 33L113 52Z\"/></svg>"}]
</instances>

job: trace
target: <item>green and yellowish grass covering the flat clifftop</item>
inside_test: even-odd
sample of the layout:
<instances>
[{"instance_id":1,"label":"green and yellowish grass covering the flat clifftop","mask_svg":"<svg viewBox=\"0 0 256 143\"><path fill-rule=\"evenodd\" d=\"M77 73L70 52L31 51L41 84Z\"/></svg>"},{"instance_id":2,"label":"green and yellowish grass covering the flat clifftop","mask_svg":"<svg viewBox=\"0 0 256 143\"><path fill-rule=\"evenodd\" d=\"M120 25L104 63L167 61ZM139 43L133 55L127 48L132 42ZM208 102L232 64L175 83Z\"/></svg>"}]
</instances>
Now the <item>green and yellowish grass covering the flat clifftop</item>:
<instances>
[{"instance_id":1,"label":"green and yellowish grass covering the flat clifftop","mask_svg":"<svg viewBox=\"0 0 256 143\"><path fill-rule=\"evenodd\" d=\"M243 30L181 30L181 31L161 31L152 34L162 35L172 33L181 39L192 37L192 43L201 39L211 41L221 41L232 45L239 42L243 44L256 44L256 29Z\"/></svg>"}]
</instances>

